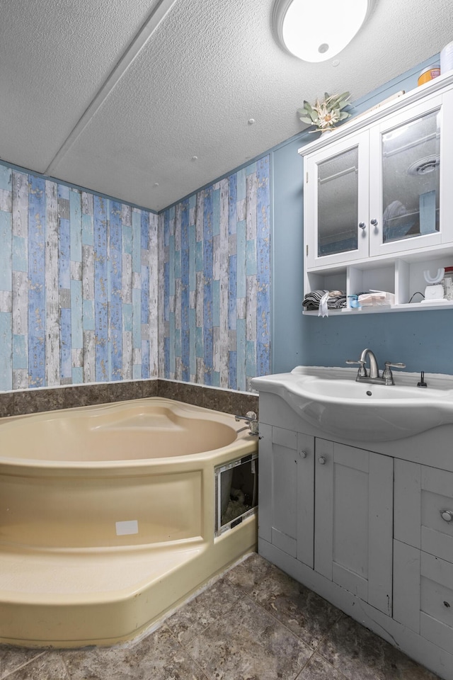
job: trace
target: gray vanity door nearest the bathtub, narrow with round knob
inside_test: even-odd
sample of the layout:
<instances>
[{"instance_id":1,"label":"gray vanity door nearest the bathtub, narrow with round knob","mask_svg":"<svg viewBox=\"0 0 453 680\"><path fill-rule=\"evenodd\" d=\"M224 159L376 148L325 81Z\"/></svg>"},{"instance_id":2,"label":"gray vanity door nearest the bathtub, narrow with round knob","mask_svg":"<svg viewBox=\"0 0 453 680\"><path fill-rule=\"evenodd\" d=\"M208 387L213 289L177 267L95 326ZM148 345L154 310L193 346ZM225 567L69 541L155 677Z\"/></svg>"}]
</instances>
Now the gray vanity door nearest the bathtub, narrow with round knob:
<instances>
[{"instance_id":1,"label":"gray vanity door nearest the bathtub, narrow with round knob","mask_svg":"<svg viewBox=\"0 0 453 680\"><path fill-rule=\"evenodd\" d=\"M314 437L260 424L258 537L313 567Z\"/></svg>"}]
</instances>

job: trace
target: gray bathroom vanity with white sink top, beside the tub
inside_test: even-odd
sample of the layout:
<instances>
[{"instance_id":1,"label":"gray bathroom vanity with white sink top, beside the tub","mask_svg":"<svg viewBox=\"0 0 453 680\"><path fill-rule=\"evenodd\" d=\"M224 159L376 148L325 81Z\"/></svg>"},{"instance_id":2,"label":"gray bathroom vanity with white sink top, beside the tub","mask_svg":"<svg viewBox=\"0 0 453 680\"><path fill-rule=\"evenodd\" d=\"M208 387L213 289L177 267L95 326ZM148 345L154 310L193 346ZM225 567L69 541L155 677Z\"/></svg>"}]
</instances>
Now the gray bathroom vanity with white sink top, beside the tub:
<instances>
[{"instance_id":1,"label":"gray bathroom vanity with white sink top, beside the tub","mask_svg":"<svg viewBox=\"0 0 453 680\"><path fill-rule=\"evenodd\" d=\"M358 385L356 373L299 367L253 380L258 551L453 680L453 377L427 376L420 390L415 374L395 374L397 384L387 387ZM345 395L338 397L343 421L323 420L336 392ZM398 431L398 411L404 421L404 409L412 410L415 427L431 399L447 404L442 424L427 420L411 435L407 420ZM379 419L388 400L394 422L386 430L389 415ZM367 428L373 413L379 426Z\"/></svg>"}]
</instances>

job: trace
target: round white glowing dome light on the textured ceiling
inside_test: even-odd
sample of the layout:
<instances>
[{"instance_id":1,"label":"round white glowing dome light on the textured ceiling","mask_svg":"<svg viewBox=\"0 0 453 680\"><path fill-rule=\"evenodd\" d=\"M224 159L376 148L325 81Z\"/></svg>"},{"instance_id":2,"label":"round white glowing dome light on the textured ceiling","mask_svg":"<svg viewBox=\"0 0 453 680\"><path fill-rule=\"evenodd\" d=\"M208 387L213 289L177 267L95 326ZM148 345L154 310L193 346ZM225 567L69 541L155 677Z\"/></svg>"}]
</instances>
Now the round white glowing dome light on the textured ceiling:
<instances>
[{"instance_id":1,"label":"round white glowing dome light on the textured ceiling","mask_svg":"<svg viewBox=\"0 0 453 680\"><path fill-rule=\"evenodd\" d=\"M324 62L354 38L374 0L276 0L273 27L280 44L305 62Z\"/></svg>"}]
</instances>

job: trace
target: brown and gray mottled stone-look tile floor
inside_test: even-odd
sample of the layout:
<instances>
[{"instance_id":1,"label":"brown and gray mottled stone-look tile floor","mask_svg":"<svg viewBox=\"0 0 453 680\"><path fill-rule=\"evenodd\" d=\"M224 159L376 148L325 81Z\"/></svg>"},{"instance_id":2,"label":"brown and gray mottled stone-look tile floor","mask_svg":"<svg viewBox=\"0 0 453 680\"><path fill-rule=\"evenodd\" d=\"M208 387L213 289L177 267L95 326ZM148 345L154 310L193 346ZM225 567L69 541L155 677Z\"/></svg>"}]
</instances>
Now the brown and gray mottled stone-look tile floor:
<instances>
[{"instance_id":1,"label":"brown and gray mottled stone-look tile floor","mask_svg":"<svg viewBox=\"0 0 453 680\"><path fill-rule=\"evenodd\" d=\"M253 554L146 636L110 648L0 645L0 680L435 680Z\"/></svg>"}]
</instances>

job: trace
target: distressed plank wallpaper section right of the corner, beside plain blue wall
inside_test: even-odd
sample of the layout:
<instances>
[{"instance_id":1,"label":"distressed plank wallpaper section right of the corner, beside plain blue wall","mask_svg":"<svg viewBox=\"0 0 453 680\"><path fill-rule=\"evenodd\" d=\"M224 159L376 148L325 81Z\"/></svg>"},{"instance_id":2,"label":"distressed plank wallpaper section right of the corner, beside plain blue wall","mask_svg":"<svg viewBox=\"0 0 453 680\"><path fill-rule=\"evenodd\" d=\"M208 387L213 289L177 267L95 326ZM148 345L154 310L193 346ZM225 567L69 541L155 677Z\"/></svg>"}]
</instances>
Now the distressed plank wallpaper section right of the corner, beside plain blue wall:
<instances>
[{"instance_id":1,"label":"distressed plank wallpaper section right of the corner, beside plain blue wall","mask_svg":"<svg viewBox=\"0 0 453 680\"><path fill-rule=\"evenodd\" d=\"M269 166L159 215L159 377L250 391L270 373Z\"/></svg>"}]
</instances>

